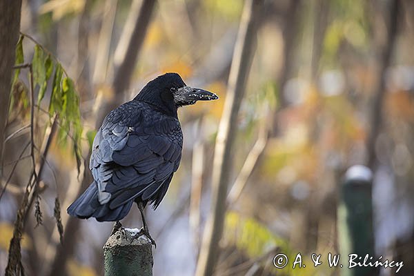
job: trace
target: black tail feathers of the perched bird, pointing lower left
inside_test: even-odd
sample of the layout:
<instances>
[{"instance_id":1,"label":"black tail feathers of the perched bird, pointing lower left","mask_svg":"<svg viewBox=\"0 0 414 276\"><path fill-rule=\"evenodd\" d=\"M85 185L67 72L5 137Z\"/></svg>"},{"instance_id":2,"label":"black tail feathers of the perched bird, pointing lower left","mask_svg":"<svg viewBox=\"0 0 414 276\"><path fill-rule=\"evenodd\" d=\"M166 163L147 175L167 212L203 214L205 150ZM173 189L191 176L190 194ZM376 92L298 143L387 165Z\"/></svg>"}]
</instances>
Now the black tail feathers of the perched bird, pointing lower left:
<instances>
[{"instance_id":1,"label":"black tail feathers of the perched bird, pointing lower left","mask_svg":"<svg viewBox=\"0 0 414 276\"><path fill-rule=\"evenodd\" d=\"M109 208L109 203L99 204L98 188L95 181L90 184L83 194L68 207L68 214L79 219L95 217L97 221L119 221L129 212L134 201L129 201L115 209Z\"/></svg>"}]
</instances>

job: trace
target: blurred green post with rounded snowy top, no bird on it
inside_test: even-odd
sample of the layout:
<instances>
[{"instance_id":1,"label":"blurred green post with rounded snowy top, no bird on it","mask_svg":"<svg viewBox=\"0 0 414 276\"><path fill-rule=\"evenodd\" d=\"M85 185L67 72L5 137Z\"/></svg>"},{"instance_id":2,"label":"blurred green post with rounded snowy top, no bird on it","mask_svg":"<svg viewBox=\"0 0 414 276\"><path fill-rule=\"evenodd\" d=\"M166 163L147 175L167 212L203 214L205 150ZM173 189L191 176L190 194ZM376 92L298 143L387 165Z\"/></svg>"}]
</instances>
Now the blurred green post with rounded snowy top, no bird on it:
<instances>
[{"instance_id":1,"label":"blurred green post with rounded snowy top, no bird on it","mask_svg":"<svg viewBox=\"0 0 414 276\"><path fill-rule=\"evenodd\" d=\"M343 265L340 269L344 276L377 275L375 268L357 265L364 262L367 254L366 264L375 262L372 181L371 170L357 165L346 171L342 182L337 227L340 263Z\"/></svg>"}]
</instances>

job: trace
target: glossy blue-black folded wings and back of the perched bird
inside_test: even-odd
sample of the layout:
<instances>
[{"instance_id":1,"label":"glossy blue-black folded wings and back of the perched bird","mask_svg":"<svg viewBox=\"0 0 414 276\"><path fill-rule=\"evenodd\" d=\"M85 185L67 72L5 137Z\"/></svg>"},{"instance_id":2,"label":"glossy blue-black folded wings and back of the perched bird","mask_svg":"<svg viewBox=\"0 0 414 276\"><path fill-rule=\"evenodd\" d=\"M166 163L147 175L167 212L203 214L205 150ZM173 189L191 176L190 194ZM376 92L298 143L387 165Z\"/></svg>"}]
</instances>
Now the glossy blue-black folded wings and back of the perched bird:
<instances>
[{"instance_id":1,"label":"glossy blue-black folded wings and back of the perched bird","mask_svg":"<svg viewBox=\"0 0 414 276\"><path fill-rule=\"evenodd\" d=\"M175 118L148 120L140 114L135 120L104 121L90 158L100 204L109 202L112 209L140 196L156 208L179 166L181 148Z\"/></svg>"}]
</instances>

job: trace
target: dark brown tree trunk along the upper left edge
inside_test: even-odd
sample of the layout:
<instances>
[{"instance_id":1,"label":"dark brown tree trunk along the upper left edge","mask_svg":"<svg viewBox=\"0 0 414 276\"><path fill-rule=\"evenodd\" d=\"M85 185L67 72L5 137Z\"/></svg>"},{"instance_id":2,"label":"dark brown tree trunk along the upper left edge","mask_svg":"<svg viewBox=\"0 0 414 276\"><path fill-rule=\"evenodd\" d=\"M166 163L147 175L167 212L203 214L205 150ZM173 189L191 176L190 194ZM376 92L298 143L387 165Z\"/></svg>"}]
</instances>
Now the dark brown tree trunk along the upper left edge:
<instances>
[{"instance_id":1,"label":"dark brown tree trunk along the upper left edge","mask_svg":"<svg viewBox=\"0 0 414 276\"><path fill-rule=\"evenodd\" d=\"M21 0L0 1L0 164L12 84L15 48L19 39ZM0 168L0 178L3 168Z\"/></svg>"}]
</instances>

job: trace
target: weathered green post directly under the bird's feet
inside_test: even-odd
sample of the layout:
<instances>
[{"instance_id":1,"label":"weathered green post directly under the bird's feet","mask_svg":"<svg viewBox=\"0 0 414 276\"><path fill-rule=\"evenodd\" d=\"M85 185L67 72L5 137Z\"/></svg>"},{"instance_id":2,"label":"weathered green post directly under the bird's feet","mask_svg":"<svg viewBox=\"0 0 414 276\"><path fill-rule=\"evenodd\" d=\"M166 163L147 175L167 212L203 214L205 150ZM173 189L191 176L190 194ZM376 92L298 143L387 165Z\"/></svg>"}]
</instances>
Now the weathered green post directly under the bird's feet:
<instances>
[{"instance_id":1,"label":"weathered green post directly under the bird's feet","mask_svg":"<svg viewBox=\"0 0 414 276\"><path fill-rule=\"evenodd\" d=\"M152 276L152 244L138 229L119 228L105 246L105 276Z\"/></svg>"}]
</instances>

